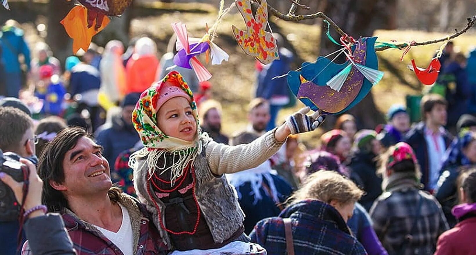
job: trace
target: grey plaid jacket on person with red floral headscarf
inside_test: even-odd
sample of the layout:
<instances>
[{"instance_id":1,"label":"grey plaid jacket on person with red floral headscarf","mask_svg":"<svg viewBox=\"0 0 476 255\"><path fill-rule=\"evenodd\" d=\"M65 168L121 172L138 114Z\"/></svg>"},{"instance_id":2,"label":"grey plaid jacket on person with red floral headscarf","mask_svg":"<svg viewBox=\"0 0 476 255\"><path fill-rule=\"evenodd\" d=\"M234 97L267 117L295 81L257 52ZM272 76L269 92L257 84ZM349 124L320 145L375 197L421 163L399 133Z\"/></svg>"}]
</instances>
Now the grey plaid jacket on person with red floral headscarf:
<instances>
[{"instance_id":1,"label":"grey plaid jacket on person with red floral headscarf","mask_svg":"<svg viewBox=\"0 0 476 255\"><path fill-rule=\"evenodd\" d=\"M420 217L412 228L417 216L420 200ZM387 249L393 254L433 254L436 240L448 229L445 215L436 198L414 187L405 187L384 192L370 209L375 232ZM410 231L412 231L410 233ZM399 253L406 236L406 250Z\"/></svg>"}]
</instances>

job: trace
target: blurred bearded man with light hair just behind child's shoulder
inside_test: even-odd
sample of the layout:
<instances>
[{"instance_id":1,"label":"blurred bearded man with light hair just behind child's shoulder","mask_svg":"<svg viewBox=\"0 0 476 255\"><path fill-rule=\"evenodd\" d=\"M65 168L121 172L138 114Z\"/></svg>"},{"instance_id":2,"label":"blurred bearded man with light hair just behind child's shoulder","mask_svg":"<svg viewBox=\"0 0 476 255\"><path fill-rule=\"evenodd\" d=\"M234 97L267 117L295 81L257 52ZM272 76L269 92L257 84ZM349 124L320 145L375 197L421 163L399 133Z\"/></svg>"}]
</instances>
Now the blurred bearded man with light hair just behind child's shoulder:
<instances>
[{"instance_id":1,"label":"blurred bearded man with light hair just behind child's shoulder","mask_svg":"<svg viewBox=\"0 0 476 255\"><path fill-rule=\"evenodd\" d=\"M213 141L228 144L228 136L221 133L221 104L209 99L199 106L200 123L202 131L207 132Z\"/></svg>"}]
</instances>

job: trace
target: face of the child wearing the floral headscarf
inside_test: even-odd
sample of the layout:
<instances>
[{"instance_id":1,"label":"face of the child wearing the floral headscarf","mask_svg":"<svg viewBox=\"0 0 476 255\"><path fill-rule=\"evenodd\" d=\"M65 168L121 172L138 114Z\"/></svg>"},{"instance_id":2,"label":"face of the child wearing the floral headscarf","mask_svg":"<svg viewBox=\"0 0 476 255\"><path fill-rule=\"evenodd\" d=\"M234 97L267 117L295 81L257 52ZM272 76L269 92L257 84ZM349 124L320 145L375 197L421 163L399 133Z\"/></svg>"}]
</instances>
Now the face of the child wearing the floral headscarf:
<instances>
[{"instance_id":1,"label":"face of the child wearing the floral headscarf","mask_svg":"<svg viewBox=\"0 0 476 255\"><path fill-rule=\"evenodd\" d=\"M195 139L197 122L190 104L184 97L174 97L162 104L159 109L157 123L160 130L168 136L188 142Z\"/></svg>"}]
</instances>

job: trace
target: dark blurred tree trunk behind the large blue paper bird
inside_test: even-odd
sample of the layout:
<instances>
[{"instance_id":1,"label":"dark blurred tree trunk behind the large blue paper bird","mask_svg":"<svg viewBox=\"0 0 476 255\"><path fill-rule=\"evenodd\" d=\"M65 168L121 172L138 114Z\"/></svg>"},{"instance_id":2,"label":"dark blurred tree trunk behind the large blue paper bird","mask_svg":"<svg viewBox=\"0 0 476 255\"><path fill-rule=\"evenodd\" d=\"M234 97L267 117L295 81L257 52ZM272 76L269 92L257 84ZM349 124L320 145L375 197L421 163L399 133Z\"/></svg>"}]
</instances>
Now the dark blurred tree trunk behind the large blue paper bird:
<instances>
[{"instance_id":1,"label":"dark blurred tree trunk behind the large blue paper bird","mask_svg":"<svg viewBox=\"0 0 476 255\"><path fill-rule=\"evenodd\" d=\"M386 7L390 5L390 10ZM396 0L339 0L327 1L327 5L323 10L328 17L332 19L354 38L372 36L375 29L387 28L392 22L388 21L387 12L396 9ZM323 28L326 29L326 28ZM324 30L325 31L325 30ZM338 35L331 31L334 38L339 38ZM326 33L321 33L321 51L320 55L326 55L337 50L337 46L327 39ZM342 58L337 62L343 62ZM367 96L355 107L350 109L348 113L354 115L358 122L365 128L374 128L379 123L384 123L383 115L377 110L375 106L374 97L372 93ZM327 125L332 126L329 122Z\"/></svg>"}]
</instances>

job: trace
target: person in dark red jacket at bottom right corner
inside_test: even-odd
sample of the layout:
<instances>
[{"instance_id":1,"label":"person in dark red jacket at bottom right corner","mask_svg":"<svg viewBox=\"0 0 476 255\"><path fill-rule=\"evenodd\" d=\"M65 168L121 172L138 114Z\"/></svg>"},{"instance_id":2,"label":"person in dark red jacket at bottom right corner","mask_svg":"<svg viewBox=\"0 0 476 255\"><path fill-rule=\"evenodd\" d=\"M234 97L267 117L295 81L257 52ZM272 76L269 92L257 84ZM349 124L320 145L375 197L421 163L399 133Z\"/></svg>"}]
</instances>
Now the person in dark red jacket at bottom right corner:
<instances>
[{"instance_id":1,"label":"person in dark red jacket at bottom right corner","mask_svg":"<svg viewBox=\"0 0 476 255\"><path fill-rule=\"evenodd\" d=\"M476 169L463 172L459 178L459 205L451 213L458 224L438 238L435 255L475 254L476 243Z\"/></svg>"}]
</instances>

